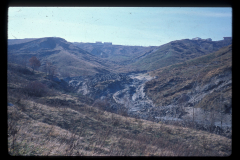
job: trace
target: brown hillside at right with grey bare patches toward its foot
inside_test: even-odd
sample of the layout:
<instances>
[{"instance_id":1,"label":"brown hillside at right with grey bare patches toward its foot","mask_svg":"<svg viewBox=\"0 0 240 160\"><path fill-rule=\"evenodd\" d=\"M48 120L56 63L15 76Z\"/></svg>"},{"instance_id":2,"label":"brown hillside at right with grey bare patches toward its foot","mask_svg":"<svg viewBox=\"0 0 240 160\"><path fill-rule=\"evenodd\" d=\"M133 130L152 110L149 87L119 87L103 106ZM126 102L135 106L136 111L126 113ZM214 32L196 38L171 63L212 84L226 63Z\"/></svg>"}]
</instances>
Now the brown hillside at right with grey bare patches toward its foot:
<instances>
[{"instance_id":1,"label":"brown hillside at right with grey bare patches toward its foot","mask_svg":"<svg viewBox=\"0 0 240 160\"><path fill-rule=\"evenodd\" d=\"M155 117L231 127L232 45L150 75L155 79L146 82L145 92Z\"/></svg>"}]
</instances>

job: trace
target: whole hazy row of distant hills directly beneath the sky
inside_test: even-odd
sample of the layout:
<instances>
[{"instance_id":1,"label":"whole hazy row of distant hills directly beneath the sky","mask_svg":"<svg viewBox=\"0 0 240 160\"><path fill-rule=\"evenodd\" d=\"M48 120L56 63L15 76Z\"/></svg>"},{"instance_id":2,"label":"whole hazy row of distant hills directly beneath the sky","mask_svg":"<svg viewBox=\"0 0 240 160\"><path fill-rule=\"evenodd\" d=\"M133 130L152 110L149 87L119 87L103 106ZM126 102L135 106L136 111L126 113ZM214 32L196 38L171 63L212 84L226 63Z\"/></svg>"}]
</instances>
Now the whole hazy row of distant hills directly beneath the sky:
<instances>
[{"instance_id":1,"label":"whole hazy row of distant hills directly beneath the sky","mask_svg":"<svg viewBox=\"0 0 240 160\"><path fill-rule=\"evenodd\" d=\"M209 54L231 43L228 39L184 39L161 46L142 47L111 43L71 43L57 37L9 39L8 60L20 63L36 56L43 65L46 61L51 61L60 76L66 72L70 76L121 73L159 69Z\"/></svg>"}]
</instances>

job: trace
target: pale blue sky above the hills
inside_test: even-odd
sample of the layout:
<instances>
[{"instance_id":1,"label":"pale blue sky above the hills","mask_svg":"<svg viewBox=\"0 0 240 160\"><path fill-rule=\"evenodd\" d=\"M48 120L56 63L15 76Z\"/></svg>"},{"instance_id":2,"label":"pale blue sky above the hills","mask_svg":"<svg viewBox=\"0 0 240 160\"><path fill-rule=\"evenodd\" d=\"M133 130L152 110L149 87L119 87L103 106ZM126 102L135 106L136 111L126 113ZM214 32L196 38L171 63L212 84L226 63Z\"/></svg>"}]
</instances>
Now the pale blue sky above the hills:
<instances>
[{"instance_id":1,"label":"pale blue sky above the hills","mask_svg":"<svg viewBox=\"0 0 240 160\"><path fill-rule=\"evenodd\" d=\"M159 46L185 38L232 36L232 8L10 7L8 39L61 37L69 42Z\"/></svg>"}]
</instances>

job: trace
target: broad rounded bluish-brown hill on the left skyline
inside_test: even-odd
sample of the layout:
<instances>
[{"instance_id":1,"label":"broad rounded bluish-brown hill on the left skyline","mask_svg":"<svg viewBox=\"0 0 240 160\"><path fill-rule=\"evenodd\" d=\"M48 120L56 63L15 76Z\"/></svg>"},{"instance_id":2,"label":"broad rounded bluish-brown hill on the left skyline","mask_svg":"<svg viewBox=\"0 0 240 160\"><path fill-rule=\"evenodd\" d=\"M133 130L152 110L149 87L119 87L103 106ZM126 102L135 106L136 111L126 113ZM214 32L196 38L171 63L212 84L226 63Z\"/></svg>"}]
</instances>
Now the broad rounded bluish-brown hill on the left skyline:
<instances>
[{"instance_id":1,"label":"broad rounded bluish-brown hill on the left skyline","mask_svg":"<svg viewBox=\"0 0 240 160\"><path fill-rule=\"evenodd\" d=\"M18 41L8 45L8 61L20 63L36 56L42 63L52 62L57 67L58 75L69 76L93 75L99 72L110 72L118 65L100 59L87 51L74 46L62 38L39 38L31 41Z\"/></svg>"}]
</instances>

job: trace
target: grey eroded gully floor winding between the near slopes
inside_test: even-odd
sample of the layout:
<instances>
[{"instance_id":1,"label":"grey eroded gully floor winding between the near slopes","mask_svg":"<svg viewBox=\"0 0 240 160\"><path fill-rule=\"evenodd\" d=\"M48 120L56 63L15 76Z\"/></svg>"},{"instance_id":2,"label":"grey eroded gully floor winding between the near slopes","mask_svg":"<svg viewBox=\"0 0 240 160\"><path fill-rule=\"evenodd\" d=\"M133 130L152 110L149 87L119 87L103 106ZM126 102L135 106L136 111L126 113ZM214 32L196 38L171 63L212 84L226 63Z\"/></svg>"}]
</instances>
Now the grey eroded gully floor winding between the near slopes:
<instances>
[{"instance_id":1,"label":"grey eroded gully floor winding between the near slopes","mask_svg":"<svg viewBox=\"0 0 240 160\"><path fill-rule=\"evenodd\" d=\"M181 123L188 126L192 122L193 105L189 105L192 98L189 98L186 105L172 103L167 106L155 106L145 94L145 83L154 79L147 72L131 73L104 73L94 76L68 77L64 80L74 88L74 91L90 96L97 100L107 100L106 110L121 113L124 109L128 116L139 117L164 123ZM231 82L229 82L231 83ZM229 85L229 84L226 84ZM199 90L199 89L198 89ZM206 89L205 89L206 90ZM198 92L196 97L206 95L206 91ZM224 122L220 123L220 113L215 113L215 121L211 121L212 114L201 108L195 109L194 125L198 129L215 132L227 137L231 136L231 114L224 114ZM191 124L192 125L192 124ZM222 126L222 128L220 128Z\"/></svg>"}]
</instances>

